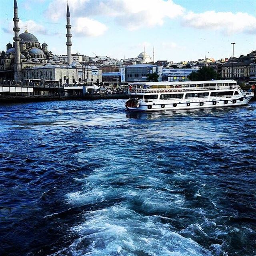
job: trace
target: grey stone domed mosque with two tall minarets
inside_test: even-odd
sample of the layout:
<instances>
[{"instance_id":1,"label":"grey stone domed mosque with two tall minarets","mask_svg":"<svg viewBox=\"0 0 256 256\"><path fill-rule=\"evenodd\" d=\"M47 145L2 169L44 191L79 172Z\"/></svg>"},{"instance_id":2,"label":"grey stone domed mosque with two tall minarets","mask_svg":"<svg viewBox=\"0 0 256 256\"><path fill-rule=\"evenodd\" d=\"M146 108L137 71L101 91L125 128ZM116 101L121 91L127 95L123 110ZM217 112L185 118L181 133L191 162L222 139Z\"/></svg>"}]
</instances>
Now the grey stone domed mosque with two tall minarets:
<instances>
[{"instance_id":1,"label":"grey stone domed mosque with two tall minarets","mask_svg":"<svg viewBox=\"0 0 256 256\"><path fill-rule=\"evenodd\" d=\"M53 80L60 83L73 83L84 81L85 68L79 62L72 62L70 11L67 4L66 29L67 29L67 64L59 60L58 56L48 50L48 45L38 42L27 28L19 34L18 5L14 0L14 43L6 45L6 52L0 55L0 78L6 80L24 81L27 79ZM100 81L101 82L101 81Z\"/></svg>"}]
</instances>

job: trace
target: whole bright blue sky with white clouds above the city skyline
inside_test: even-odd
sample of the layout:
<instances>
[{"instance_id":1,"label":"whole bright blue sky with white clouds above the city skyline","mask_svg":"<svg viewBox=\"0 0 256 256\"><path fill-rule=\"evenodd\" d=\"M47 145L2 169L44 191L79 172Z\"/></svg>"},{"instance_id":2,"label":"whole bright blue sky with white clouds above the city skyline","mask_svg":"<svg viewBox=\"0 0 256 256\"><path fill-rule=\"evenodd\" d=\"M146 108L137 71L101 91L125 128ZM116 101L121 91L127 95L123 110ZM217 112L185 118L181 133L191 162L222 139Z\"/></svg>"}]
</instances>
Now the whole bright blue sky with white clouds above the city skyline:
<instances>
[{"instance_id":1,"label":"whole bright blue sky with white clouds above the city skyline","mask_svg":"<svg viewBox=\"0 0 256 256\"><path fill-rule=\"evenodd\" d=\"M54 54L66 54L66 0L17 0L27 24ZM69 0L72 53L155 60L229 58L256 50L255 0ZM13 42L13 1L0 0L0 50Z\"/></svg>"}]
</instances>

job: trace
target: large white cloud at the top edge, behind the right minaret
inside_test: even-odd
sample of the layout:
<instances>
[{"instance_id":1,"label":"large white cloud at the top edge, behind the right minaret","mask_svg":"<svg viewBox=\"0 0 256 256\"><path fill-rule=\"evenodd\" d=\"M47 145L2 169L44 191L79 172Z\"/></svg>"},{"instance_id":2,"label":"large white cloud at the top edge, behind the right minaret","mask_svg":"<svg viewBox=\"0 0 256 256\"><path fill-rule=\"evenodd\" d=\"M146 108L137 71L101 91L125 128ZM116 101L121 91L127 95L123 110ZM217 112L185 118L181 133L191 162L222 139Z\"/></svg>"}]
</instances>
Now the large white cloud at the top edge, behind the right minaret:
<instances>
[{"instance_id":1,"label":"large white cloud at the top edge, behind the right minaret","mask_svg":"<svg viewBox=\"0 0 256 256\"><path fill-rule=\"evenodd\" d=\"M52 2L46 15L52 20L66 16L66 5L62 0ZM117 24L137 30L164 24L164 18L175 18L184 8L172 0L70 0L72 17L114 17ZM72 18L71 17L71 18Z\"/></svg>"}]
</instances>

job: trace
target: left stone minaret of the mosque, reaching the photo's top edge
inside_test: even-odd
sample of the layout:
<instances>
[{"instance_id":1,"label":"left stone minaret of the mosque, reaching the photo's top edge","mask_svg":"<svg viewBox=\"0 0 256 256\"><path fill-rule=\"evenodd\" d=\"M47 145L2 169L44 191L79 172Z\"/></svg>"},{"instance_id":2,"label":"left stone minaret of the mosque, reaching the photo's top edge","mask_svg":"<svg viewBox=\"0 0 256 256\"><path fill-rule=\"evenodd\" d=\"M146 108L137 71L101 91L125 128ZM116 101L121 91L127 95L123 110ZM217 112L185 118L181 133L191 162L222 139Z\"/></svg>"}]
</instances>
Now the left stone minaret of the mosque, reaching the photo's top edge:
<instances>
[{"instance_id":1,"label":"left stone minaret of the mosque, reaching the photo's top edge","mask_svg":"<svg viewBox=\"0 0 256 256\"><path fill-rule=\"evenodd\" d=\"M15 64L14 64L14 80L19 81L20 80L20 70L21 70L21 64L20 64L20 37L19 37L19 18L18 18L18 5L17 1L14 0L14 48L15 48Z\"/></svg>"}]
</instances>

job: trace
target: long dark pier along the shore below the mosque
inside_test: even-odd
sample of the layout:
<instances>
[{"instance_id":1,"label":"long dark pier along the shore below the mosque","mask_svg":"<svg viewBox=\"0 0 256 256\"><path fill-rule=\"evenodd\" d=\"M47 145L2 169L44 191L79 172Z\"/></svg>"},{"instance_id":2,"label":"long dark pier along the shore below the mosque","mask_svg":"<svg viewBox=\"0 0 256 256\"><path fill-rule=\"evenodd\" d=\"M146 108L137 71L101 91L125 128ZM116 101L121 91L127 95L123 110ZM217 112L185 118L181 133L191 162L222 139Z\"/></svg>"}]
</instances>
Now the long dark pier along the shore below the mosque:
<instances>
[{"instance_id":1,"label":"long dark pier along the shore below the mosque","mask_svg":"<svg viewBox=\"0 0 256 256\"><path fill-rule=\"evenodd\" d=\"M105 88L93 84L64 85L50 80L28 80L25 82L0 80L0 103L127 98L127 86Z\"/></svg>"}]
</instances>

